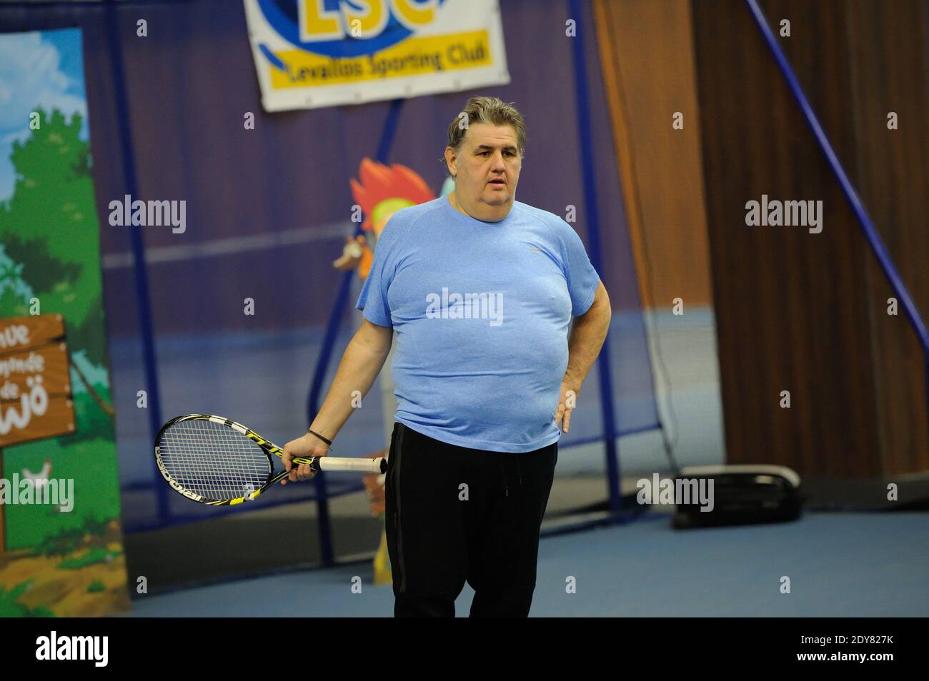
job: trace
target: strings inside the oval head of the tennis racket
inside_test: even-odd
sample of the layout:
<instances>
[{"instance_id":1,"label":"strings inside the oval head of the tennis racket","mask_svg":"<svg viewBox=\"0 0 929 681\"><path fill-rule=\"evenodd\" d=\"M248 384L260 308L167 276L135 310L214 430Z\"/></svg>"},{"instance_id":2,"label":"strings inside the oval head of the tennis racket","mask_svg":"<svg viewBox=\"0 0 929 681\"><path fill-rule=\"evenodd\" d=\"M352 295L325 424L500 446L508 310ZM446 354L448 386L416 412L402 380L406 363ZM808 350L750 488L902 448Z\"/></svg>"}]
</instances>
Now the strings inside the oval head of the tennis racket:
<instances>
[{"instance_id":1,"label":"strings inside the oval head of the tennis racket","mask_svg":"<svg viewBox=\"0 0 929 681\"><path fill-rule=\"evenodd\" d=\"M268 455L254 441L204 419L178 421L164 430L160 453L175 482L210 499L248 495L271 473Z\"/></svg>"}]
</instances>

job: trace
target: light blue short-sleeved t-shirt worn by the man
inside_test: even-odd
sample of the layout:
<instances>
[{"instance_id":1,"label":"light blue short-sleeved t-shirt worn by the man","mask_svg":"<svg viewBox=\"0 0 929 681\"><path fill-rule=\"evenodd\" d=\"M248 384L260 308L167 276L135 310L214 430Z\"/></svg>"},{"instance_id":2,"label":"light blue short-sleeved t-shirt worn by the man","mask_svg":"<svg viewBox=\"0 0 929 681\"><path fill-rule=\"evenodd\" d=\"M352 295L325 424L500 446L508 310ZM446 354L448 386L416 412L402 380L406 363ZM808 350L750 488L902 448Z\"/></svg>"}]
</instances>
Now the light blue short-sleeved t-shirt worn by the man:
<instances>
[{"instance_id":1,"label":"light blue short-sleeved t-shirt worn by the man","mask_svg":"<svg viewBox=\"0 0 929 681\"><path fill-rule=\"evenodd\" d=\"M599 281L577 233L519 201L495 223L448 197L394 213L356 307L397 332L396 419L474 449L555 443L570 319Z\"/></svg>"}]
</instances>

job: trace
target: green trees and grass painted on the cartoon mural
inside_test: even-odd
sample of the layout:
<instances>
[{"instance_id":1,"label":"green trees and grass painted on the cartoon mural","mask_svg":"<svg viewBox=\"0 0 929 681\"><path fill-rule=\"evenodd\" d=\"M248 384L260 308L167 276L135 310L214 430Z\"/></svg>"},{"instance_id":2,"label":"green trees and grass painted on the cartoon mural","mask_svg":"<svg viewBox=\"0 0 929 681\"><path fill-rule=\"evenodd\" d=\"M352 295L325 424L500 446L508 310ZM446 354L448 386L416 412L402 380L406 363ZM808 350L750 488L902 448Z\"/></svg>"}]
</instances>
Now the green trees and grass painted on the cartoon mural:
<instances>
[{"instance_id":1,"label":"green trees and grass painted on the cartoon mural","mask_svg":"<svg viewBox=\"0 0 929 681\"><path fill-rule=\"evenodd\" d=\"M89 149L79 139L82 118L40 110L40 126L13 145L13 195L0 203L0 317L30 314L38 298L43 314L62 313L72 357L85 353L105 366L99 234ZM9 548L38 546L59 533L86 531L95 522L119 518L113 422L86 392L75 392L76 431L4 450L5 469L38 470L55 459L55 476L75 479L80 504L72 513L44 507L9 507ZM111 401L108 385L95 392Z\"/></svg>"}]
</instances>

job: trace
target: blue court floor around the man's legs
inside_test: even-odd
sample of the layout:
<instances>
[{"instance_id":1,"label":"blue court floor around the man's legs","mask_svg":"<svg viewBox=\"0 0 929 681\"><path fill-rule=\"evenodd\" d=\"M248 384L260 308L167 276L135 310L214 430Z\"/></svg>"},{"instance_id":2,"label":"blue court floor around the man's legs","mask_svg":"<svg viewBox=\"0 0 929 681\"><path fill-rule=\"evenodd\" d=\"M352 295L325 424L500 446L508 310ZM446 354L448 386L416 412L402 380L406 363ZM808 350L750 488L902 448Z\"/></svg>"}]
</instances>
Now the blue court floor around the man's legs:
<instances>
[{"instance_id":1,"label":"blue court floor around the man's legs","mask_svg":"<svg viewBox=\"0 0 929 681\"><path fill-rule=\"evenodd\" d=\"M927 513L816 513L683 532L671 529L670 516L646 518L544 538L531 615L929 615ZM356 564L139 597L132 616L391 616L391 588L371 585L371 575L370 565ZM355 576L361 593L352 593ZM570 577L576 593L567 593ZM458 616L473 593L464 586Z\"/></svg>"}]
</instances>

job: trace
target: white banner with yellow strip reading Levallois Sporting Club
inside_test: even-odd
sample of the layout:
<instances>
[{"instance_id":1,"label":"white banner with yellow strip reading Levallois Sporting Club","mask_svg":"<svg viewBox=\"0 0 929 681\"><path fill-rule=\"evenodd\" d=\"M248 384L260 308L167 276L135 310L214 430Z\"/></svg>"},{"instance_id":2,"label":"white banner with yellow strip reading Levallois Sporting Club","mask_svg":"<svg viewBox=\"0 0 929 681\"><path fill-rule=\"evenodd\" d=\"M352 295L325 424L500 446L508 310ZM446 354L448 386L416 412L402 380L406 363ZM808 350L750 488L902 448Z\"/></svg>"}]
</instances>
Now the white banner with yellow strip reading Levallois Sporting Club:
<instances>
[{"instance_id":1,"label":"white banner with yellow strip reading Levallois Sporting Club","mask_svg":"<svg viewBox=\"0 0 929 681\"><path fill-rule=\"evenodd\" d=\"M243 0L267 111L510 82L497 0Z\"/></svg>"}]
</instances>

